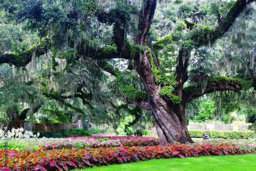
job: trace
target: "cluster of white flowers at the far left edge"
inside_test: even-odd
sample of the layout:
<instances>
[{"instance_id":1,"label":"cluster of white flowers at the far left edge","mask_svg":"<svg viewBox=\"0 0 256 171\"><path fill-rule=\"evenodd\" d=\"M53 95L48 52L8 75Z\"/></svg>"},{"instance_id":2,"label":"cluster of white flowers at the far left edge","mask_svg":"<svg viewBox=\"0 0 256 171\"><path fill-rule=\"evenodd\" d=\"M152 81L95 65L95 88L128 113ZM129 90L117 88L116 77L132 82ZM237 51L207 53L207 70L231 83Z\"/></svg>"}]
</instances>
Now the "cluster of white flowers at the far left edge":
<instances>
[{"instance_id":1,"label":"cluster of white flowers at the far left edge","mask_svg":"<svg viewBox=\"0 0 256 171\"><path fill-rule=\"evenodd\" d=\"M30 131L25 131L25 133L23 132L24 132L23 127L20 127L19 129L14 129L13 127L11 132L8 130L7 138L37 138L40 135L39 133L37 133L37 135L34 135ZM5 132L2 129L0 129L0 138L6 138L4 136L5 136Z\"/></svg>"}]
</instances>

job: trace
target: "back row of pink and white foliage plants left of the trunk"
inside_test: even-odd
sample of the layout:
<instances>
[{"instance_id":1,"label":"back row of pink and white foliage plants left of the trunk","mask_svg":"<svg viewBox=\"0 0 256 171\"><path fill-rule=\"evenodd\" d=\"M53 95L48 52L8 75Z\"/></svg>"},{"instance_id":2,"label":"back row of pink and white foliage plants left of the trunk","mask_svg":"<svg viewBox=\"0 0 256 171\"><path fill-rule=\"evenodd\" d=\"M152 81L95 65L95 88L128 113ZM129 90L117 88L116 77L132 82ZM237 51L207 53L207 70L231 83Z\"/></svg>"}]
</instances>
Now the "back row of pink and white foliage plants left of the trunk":
<instances>
[{"instance_id":1,"label":"back row of pink and white foliage plants left of the trunk","mask_svg":"<svg viewBox=\"0 0 256 171\"><path fill-rule=\"evenodd\" d=\"M97 148L117 146L151 146L159 145L154 137L70 137L59 139L39 139L38 144L43 149L62 148Z\"/></svg>"}]
</instances>

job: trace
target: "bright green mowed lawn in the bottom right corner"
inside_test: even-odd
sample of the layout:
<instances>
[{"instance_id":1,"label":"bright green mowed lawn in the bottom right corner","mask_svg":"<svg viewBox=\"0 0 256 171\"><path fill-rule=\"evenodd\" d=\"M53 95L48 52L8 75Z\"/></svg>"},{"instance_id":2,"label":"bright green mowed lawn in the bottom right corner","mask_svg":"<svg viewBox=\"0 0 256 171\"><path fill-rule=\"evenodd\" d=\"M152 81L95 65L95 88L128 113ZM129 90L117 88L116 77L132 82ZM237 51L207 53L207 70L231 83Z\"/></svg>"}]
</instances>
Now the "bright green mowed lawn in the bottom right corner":
<instances>
[{"instance_id":1,"label":"bright green mowed lawn in the bottom right corner","mask_svg":"<svg viewBox=\"0 0 256 171\"><path fill-rule=\"evenodd\" d=\"M207 157L190 157L190 158L174 158L150 160L144 162L136 162L120 165L100 166L86 169L76 169L76 171L113 171L113 170L129 170L129 171L165 171L165 170L256 170L256 155L242 156L207 156Z\"/></svg>"}]
</instances>

